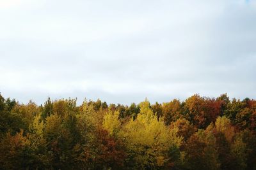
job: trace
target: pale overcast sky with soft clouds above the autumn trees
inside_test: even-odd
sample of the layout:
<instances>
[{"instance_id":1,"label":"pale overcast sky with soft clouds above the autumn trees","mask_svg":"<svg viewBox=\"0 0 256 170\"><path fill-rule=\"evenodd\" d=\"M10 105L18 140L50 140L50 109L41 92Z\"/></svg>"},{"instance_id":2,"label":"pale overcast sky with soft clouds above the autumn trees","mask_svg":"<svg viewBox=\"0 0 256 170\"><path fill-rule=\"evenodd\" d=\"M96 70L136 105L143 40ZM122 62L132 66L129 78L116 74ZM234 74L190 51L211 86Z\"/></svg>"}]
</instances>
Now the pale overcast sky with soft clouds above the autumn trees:
<instances>
[{"instance_id":1,"label":"pale overcast sky with soft clouds above the autumn trees","mask_svg":"<svg viewBox=\"0 0 256 170\"><path fill-rule=\"evenodd\" d=\"M0 0L0 92L20 103L256 99L256 0Z\"/></svg>"}]
</instances>

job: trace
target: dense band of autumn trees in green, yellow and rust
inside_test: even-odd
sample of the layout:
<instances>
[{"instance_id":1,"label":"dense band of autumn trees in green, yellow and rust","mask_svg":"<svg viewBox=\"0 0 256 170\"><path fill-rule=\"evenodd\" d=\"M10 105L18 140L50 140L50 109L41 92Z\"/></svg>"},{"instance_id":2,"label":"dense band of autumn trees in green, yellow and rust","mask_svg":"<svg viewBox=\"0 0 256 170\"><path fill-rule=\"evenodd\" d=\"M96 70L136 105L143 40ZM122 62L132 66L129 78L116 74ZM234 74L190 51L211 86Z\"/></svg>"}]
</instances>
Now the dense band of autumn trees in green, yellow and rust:
<instances>
[{"instance_id":1,"label":"dense band of autumn trees in green, yellow and rust","mask_svg":"<svg viewBox=\"0 0 256 170\"><path fill-rule=\"evenodd\" d=\"M256 101L131 106L0 94L0 169L256 169Z\"/></svg>"}]
</instances>

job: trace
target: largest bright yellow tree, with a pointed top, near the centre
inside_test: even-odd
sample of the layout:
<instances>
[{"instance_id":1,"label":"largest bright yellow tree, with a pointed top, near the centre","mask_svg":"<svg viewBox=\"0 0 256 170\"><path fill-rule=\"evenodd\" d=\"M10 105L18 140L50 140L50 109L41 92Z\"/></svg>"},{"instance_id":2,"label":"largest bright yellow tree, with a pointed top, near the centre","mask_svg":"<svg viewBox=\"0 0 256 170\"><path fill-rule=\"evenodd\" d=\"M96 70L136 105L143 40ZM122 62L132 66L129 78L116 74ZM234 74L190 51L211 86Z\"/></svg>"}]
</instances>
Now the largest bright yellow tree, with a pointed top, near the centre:
<instances>
[{"instance_id":1,"label":"largest bright yellow tree, with a pointed top, near the centre","mask_svg":"<svg viewBox=\"0 0 256 170\"><path fill-rule=\"evenodd\" d=\"M127 146L128 164L135 169L173 166L175 160L169 153L173 148L179 148L182 141L176 128L170 129L161 118L157 119L147 99L140 103L138 117L124 125L120 136Z\"/></svg>"}]
</instances>

